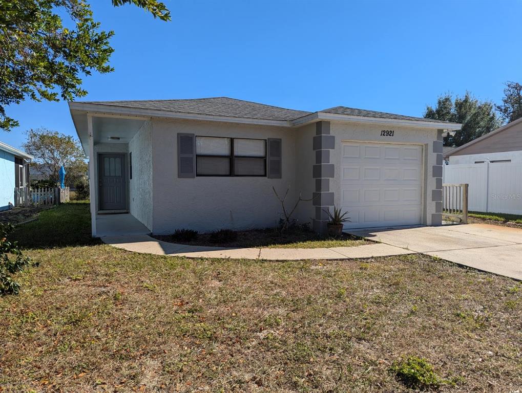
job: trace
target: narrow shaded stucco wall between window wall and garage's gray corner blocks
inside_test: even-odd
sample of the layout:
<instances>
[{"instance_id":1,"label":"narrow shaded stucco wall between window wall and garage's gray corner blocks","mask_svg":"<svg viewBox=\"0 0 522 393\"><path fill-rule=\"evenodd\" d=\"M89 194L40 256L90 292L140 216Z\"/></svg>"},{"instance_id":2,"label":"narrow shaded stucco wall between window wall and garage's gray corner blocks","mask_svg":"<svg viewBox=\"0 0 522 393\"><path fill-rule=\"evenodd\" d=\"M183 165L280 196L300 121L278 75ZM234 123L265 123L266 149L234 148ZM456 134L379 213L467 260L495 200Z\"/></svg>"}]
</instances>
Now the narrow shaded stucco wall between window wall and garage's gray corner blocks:
<instances>
[{"instance_id":1,"label":"narrow shaded stucco wall between window wall and garage's gray corner blocks","mask_svg":"<svg viewBox=\"0 0 522 393\"><path fill-rule=\"evenodd\" d=\"M315 129L316 125L313 123L295 131L295 199L298 199L299 193L301 193L303 199L311 199L312 193L315 191L315 179L313 178ZM312 201L300 202L295 212L295 218L298 219L299 223L311 225L314 217L315 208Z\"/></svg>"}]
</instances>

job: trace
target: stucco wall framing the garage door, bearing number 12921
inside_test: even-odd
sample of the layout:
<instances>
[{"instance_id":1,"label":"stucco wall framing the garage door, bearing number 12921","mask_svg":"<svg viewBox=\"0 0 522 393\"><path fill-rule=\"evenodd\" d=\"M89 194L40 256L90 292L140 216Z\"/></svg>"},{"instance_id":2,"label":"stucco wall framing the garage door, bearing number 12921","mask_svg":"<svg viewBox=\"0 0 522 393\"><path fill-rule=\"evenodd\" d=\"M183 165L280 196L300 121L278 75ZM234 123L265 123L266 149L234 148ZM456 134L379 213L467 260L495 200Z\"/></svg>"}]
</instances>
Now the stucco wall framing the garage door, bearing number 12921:
<instances>
[{"instance_id":1,"label":"stucco wall framing the garage door, bearing number 12921","mask_svg":"<svg viewBox=\"0 0 522 393\"><path fill-rule=\"evenodd\" d=\"M381 137L381 130L395 130L393 137ZM417 130L396 126L373 126L354 123L331 122L330 133L335 136L335 149L330 151L330 163L335 165L335 177L330 181L330 191L334 192L337 206L341 205L341 185L339 173L341 163L342 141L393 142L423 145L424 181L423 181L423 212L422 224L431 225L431 215L435 213L435 202L432 202L432 190L436 180L432 176L432 166L436 164L436 154L433 153L433 142L437 140L437 130Z\"/></svg>"}]
</instances>

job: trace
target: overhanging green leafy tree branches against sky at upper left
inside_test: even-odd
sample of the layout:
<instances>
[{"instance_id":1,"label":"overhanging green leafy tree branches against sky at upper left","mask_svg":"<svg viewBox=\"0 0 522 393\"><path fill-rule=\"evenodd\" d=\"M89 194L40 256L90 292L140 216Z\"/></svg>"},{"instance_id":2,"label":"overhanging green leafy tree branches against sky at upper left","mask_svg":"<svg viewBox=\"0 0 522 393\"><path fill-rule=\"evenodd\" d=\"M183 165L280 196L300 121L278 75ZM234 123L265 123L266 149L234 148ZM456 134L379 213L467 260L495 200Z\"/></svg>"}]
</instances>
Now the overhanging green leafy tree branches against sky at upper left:
<instances>
[{"instance_id":1,"label":"overhanging green leafy tree branches against sky at upper left","mask_svg":"<svg viewBox=\"0 0 522 393\"><path fill-rule=\"evenodd\" d=\"M155 18L170 20L169 10L158 0L112 4L134 4ZM64 26L63 15L75 28ZM113 71L113 35L100 29L85 0L0 0L0 129L9 131L19 124L7 116L8 105L27 98L72 101L85 96L82 76Z\"/></svg>"}]
</instances>

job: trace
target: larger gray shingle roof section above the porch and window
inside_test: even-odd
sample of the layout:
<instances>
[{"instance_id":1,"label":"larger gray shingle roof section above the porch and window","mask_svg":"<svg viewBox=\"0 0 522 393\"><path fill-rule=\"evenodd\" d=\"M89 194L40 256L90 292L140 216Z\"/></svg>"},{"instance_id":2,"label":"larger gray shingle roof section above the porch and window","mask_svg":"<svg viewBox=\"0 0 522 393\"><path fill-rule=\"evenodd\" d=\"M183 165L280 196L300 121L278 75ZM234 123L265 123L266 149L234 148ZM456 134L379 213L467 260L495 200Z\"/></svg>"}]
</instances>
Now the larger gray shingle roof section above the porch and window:
<instances>
[{"instance_id":1,"label":"larger gray shingle roof section above the porch and window","mask_svg":"<svg viewBox=\"0 0 522 393\"><path fill-rule=\"evenodd\" d=\"M89 101L90 104L122 106L127 108L167 110L210 116L229 116L263 120L293 120L310 114L303 110L280 108L255 102L212 97L192 100L147 100L147 101Z\"/></svg>"}]
</instances>

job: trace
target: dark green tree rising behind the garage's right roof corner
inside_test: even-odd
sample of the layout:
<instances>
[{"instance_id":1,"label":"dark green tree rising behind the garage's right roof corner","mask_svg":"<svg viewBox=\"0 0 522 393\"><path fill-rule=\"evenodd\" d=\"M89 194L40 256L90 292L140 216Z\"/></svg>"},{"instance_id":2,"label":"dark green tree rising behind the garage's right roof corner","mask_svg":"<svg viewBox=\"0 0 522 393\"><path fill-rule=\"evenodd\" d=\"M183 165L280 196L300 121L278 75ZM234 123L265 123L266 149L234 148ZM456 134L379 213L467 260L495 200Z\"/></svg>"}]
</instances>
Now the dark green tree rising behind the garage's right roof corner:
<instances>
[{"instance_id":1,"label":"dark green tree rising behind the garage's right roof corner","mask_svg":"<svg viewBox=\"0 0 522 393\"><path fill-rule=\"evenodd\" d=\"M461 146L501 126L493 103L480 102L470 92L466 92L464 97L455 97L455 100L450 94L438 97L435 107L426 106L424 118L462 124L455 136L444 138L444 146Z\"/></svg>"}]
</instances>

